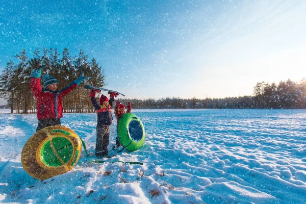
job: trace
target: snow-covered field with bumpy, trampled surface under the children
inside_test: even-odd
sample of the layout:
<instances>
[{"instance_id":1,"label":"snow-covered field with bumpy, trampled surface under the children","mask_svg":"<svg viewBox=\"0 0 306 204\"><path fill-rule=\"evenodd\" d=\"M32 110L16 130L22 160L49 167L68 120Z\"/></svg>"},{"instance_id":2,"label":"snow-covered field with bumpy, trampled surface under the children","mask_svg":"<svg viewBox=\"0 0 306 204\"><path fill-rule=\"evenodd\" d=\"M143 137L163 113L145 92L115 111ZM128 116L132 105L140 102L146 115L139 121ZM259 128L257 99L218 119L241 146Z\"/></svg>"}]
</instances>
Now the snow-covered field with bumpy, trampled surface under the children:
<instances>
[{"instance_id":1,"label":"snow-covered field with bumpy, trampled surface under the children","mask_svg":"<svg viewBox=\"0 0 306 204\"><path fill-rule=\"evenodd\" d=\"M134 110L144 146L39 181L21 166L35 114L0 110L1 203L306 203L306 110ZM115 117L114 117L115 118ZM94 152L96 114L62 125ZM113 153L116 122L111 125Z\"/></svg>"}]
</instances>

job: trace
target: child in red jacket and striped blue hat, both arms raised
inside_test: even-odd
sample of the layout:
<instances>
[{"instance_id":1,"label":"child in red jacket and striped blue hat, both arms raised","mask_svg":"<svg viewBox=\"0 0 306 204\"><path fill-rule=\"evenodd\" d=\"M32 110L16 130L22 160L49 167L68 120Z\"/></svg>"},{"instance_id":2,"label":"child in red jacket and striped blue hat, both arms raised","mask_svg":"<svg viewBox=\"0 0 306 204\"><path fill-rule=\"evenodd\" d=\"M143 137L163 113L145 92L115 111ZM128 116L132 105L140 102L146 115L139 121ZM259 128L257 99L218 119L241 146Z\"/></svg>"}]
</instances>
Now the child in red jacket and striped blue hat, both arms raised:
<instances>
[{"instance_id":1,"label":"child in red jacket and striped blue hat, both arms raised","mask_svg":"<svg viewBox=\"0 0 306 204\"><path fill-rule=\"evenodd\" d=\"M31 60L31 91L36 97L36 109L38 125L36 132L47 126L61 124L63 117L62 100L65 95L80 85L86 77L81 76L60 91L57 91L58 81L52 76L45 74L42 77L43 88L40 86L41 70L40 60Z\"/></svg>"}]
</instances>

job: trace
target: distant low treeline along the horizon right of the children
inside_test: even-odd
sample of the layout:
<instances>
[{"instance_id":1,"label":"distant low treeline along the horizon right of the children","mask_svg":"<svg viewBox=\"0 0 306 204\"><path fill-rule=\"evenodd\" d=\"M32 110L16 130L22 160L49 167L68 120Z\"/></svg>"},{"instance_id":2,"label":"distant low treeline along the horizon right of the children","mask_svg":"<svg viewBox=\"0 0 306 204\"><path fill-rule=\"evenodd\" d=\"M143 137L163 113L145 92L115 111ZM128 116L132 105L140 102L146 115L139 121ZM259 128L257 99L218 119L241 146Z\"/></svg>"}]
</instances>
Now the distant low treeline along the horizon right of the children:
<instances>
[{"instance_id":1,"label":"distant low treeline along the horizon right of the children","mask_svg":"<svg viewBox=\"0 0 306 204\"><path fill-rule=\"evenodd\" d=\"M306 109L306 78L295 83L288 79L278 85L259 82L253 88L253 96L206 99L120 99L131 101L138 109Z\"/></svg>"}]
</instances>

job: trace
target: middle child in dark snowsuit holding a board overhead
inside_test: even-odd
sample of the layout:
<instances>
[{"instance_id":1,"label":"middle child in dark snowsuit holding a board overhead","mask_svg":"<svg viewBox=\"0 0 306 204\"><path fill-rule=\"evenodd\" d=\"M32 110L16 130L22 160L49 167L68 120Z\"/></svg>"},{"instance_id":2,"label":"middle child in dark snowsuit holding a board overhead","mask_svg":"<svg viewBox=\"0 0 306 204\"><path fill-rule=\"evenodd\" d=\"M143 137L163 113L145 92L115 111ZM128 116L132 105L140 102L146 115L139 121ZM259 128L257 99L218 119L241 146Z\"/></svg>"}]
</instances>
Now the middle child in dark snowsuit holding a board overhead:
<instances>
[{"instance_id":1,"label":"middle child in dark snowsuit holding a board overhead","mask_svg":"<svg viewBox=\"0 0 306 204\"><path fill-rule=\"evenodd\" d=\"M102 158L108 155L107 146L109 144L110 138L110 126L112 124L113 116L112 116L112 103L113 100L110 100L105 96L101 95L99 99L99 104L95 99L95 92L99 92L98 90L92 89L90 91L90 99L91 103L94 106L94 109L97 113L97 139L96 139L96 148L95 155L97 158Z\"/></svg>"}]
</instances>

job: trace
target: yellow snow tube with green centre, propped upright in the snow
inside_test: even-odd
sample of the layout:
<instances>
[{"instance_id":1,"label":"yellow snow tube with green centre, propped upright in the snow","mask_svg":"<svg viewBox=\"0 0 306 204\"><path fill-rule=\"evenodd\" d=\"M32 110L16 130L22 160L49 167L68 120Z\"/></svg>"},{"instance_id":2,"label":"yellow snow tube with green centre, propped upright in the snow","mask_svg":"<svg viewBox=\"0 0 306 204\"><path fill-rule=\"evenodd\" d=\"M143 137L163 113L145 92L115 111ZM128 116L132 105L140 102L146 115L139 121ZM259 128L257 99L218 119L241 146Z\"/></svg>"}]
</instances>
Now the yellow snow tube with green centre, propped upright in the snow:
<instances>
[{"instance_id":1,"label":"yellow snow tube with green centre, propped upright in the snow","mask_svg":"<svg viewBox=\"0 0 306 204\"><path fill-rule=\"evenodd\" d=\"M68 127L54 125L29 138L22 148L21 164L34 179L44 180L71 170L80 155L79 136Z\"/></svg>"}]
</instances>

